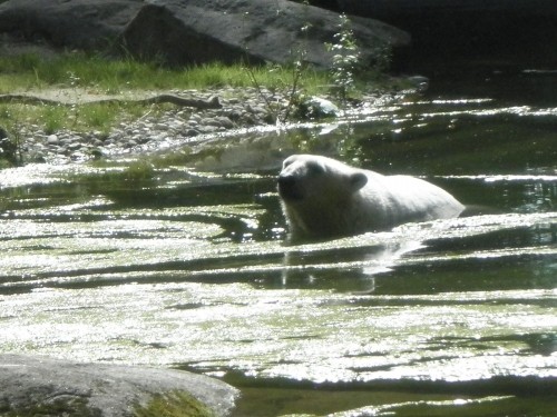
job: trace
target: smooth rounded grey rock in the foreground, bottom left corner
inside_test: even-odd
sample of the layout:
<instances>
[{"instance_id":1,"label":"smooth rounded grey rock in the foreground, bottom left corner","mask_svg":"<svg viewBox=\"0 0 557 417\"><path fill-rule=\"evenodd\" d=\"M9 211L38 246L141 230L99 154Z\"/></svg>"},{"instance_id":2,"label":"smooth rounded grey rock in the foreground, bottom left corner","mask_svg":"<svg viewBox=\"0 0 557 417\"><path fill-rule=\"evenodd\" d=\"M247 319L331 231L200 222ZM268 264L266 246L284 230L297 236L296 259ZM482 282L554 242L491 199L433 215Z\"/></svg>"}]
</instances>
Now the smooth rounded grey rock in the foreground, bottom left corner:
<instances>
[{"instance_id":1,"label":"smooth rounded grey rock in the foreground, bottom left corner","mask_svg":"<svg viewBox=\"0 0 557 417\"><path fill-rule=\"evenodd\" d=\"M225 383L179 370L0 356L0 410L10 416L133 416L137 405L177 391L216 416L229 415L238 395Z\"/></svg>"}]
</instances>

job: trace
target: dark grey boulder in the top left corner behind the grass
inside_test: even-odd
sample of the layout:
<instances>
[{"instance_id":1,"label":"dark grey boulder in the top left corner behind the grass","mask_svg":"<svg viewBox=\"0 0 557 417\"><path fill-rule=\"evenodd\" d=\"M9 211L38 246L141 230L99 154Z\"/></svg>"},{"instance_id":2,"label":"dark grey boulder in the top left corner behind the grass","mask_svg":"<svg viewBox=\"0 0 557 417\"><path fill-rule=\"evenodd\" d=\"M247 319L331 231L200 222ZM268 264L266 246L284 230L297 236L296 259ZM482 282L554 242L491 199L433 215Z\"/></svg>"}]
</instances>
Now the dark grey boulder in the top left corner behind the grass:
<instances>
[{"instance_id":1,"label":"dark grey boulder in the top left corner behind the grass","mask_svg":"<svg viewBox=\"0 0 557 417\"><path fill-rule=\"evenodd\" d=\"M143 0L9 0L0 4L0 32L56 47L107 48Z\"/></svg>"}]
</instances>

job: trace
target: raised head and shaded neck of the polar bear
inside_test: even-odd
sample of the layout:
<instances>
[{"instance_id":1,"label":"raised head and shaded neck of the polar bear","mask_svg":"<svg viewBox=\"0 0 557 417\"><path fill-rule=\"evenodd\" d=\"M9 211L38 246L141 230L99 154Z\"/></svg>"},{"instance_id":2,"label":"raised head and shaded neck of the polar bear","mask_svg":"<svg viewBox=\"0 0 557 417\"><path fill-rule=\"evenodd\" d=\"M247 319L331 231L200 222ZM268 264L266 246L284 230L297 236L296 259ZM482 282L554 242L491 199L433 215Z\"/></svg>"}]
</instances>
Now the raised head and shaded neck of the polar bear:
<instances>
[{"instance_id":1,"label":"raised head and shaded neck of the polar bear","mask_svg":"<svg viewBox=\"0 0 557 417\"><path fill-rule=\"evenodd\" d=\"M294 155L283 162L278 196L291 234L340 235L353 195L368 183L358 168L316 155Z\"/></svg>"}]
</instances>

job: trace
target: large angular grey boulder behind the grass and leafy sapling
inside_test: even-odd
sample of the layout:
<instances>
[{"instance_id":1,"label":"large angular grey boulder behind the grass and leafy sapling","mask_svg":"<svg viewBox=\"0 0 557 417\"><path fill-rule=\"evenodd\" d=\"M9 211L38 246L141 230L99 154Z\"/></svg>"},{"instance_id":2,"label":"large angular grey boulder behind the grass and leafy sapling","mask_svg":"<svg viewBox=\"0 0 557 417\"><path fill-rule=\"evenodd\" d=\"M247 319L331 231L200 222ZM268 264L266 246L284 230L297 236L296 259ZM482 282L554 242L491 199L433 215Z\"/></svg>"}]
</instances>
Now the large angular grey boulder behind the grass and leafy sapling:
<instances>
[{"instance_id":1,"label":"large angular grey boulder behind the grass and leafy sapling","mask_svg":"<svg viewBox=\"0 0 557 417\"><path fill-rule=\"evenodd\" d=\"M296 50L317 67L331 64L324 43L334 42L338 13L287 0L150 0L124 32L128 52L170 64L292 62ZM307 28L307 30L303 30ZM372 19L352 19L362 60L384 44L403 47L408 33Z\"/></svg>"}]
</instances>

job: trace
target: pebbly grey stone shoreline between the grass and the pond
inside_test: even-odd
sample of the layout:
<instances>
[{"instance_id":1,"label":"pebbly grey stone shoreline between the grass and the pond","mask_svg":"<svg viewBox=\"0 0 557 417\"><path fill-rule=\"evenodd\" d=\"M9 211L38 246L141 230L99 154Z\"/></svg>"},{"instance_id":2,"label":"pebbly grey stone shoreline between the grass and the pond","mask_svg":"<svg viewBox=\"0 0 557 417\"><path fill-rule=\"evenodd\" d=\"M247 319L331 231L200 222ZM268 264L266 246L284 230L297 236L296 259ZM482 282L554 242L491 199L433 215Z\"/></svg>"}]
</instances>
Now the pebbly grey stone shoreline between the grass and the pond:
<instances>
[{"instance_id":1,"label":"pebbly grey stone shoreline between the grass and the pond","mask_svg":"<svg viewBox=\"0 0 557 417\"><path fill-rule=\"evenodd\" d=\"M123 121L107 135L102 131L79 132L69 129L48 133L36 123L20 127L19 153L22 163L68 163L126 155L139 155L187 143L203 136L214 136L234 129L275 126L276 119L296 109L290 106L287 92L256 88L223 88L218 90L172 91L192 100L216 101L219 108L173 106L163 112L146 107L146 113L133 121ZM57 93L59 97L60 92ZM329 100L329 99L328 99ZM368 95L355 105L378 100ZM80 96L78 103L87 97ZM330 101L324 101L330 102ZM330 102L331 103L331 102ZM68 102L65 102L68 105ZM331 103L332 105L332 103Z\"/></svg>"}]
</instances>

